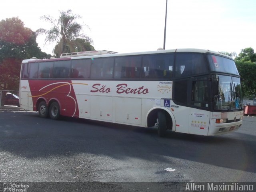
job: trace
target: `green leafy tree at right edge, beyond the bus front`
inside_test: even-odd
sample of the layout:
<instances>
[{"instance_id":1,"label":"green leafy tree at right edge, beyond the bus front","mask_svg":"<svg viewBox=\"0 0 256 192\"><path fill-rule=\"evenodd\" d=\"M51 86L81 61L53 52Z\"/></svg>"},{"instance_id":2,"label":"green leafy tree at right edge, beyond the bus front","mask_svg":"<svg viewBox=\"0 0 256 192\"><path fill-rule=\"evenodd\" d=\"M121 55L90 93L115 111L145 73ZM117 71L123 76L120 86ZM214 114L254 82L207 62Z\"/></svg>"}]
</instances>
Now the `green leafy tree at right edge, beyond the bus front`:
<instances>
[{"instance_id":1,"label":"green leafy tree at right edge, beyond the bus front","mask_svg":"<svg viewBox=\"0 0 256 192\"><path fill-rule=\"evenodd\" d=\"M241 77L244 96L252 99L256 96L256 53L249 47L242 49L235 58L236 67Z\"/></svg>"}]
</instances>

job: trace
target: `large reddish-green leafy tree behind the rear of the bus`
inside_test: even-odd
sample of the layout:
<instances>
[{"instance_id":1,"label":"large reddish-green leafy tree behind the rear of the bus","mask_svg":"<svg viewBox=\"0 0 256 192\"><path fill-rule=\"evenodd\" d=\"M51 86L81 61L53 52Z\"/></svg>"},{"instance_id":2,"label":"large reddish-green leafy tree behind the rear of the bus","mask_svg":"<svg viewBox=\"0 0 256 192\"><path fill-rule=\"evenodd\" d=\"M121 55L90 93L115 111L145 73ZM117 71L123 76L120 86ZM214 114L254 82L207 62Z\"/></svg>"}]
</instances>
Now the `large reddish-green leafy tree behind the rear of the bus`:
<instances>
[{"instance_id":1,"label":"large reddish-green leafy tree behind the rear of the bus","mask_svg":"<svg viewBox=\"0 0 256 192\"><path fill-rule=\"evenodd\" d=\"M36 43L36 34L18 17L0 21L0 89L18 90L24 59L47 56Z\"/></svg>"}]
</instances>

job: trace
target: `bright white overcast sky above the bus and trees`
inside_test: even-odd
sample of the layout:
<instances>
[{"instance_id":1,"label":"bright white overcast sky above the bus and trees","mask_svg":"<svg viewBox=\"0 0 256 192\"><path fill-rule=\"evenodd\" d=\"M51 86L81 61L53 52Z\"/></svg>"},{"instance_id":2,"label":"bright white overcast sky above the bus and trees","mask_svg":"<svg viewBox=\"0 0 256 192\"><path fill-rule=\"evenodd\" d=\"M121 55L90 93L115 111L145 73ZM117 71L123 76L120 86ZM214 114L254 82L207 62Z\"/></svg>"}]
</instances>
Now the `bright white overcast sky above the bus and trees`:
<instances>
[{"instance_id":1,"label":"bright white overcast sky above the bus and trees","mask_svg":"<svg viewBox=\"0 0 256 192\"><path fill-rule=\"evenodd\" d=\"M84 34L96 50L119 53L153 51L164 44L166 0L8 0L1 2L0 20L18 17L36 31L50 29L41 16L58 18L60 11L80 15ZM55 44L36 41L52 54ZM252 47L256 52L255 0L168 0L166 49L200 48L236 52Z\"/></svg>"}]
</instances>

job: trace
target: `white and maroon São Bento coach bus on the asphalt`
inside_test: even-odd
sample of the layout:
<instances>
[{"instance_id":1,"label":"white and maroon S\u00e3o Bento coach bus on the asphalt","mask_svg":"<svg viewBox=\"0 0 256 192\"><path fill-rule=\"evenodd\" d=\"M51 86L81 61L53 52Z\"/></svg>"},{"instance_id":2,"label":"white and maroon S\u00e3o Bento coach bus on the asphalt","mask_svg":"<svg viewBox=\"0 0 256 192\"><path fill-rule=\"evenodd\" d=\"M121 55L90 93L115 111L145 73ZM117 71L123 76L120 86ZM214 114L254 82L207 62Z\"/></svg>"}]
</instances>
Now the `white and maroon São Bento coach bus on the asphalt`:
<instances>
[{"instance_id":1,"label":"white and maroon S\u00e3o Bento coach bus on the asphalt","mask_svg":"<svg viewBox=\"0 0 256 192\"><path fill-rule=\"evenodd\" d=\"M201 49L22 61L20 106L39 116L84 118L212 136L242 125L234 60Z\"/></svg>"}]
</instances>

